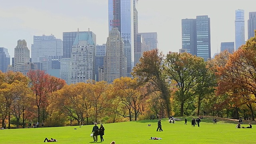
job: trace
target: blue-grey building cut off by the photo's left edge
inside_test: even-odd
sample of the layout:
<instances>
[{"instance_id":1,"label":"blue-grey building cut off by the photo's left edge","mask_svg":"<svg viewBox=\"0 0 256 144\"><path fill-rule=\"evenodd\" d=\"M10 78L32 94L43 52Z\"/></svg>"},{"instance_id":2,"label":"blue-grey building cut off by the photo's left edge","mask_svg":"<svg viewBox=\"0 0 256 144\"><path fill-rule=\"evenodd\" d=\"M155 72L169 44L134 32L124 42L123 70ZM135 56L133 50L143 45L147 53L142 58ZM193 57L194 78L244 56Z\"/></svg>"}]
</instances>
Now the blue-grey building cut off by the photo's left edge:
<instances>
[{"instance_id":1,"label":"blue-grey building cut off by the photo's left edge","mask_svg":"<svg viewBox=\"0 0 256 144\"><path fill-rule=\"evenodd\" d=\"M2 72L7 71L7 67L10 65L10 55L7 48L0 47L0 70Z\"/></svg>"}]
</instances>

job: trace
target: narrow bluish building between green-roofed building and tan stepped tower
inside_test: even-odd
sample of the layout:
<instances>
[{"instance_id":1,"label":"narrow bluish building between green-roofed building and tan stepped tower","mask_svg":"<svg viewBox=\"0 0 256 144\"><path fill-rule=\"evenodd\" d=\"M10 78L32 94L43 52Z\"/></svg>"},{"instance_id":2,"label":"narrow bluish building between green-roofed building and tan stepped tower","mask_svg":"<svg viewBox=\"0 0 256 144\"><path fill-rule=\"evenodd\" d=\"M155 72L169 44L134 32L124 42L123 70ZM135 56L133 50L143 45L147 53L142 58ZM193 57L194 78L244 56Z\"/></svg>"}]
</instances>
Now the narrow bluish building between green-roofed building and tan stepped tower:
<instances>
[{"instance_id":1,"label":"narrow bluish building between green-roofed building and tan stepped tower","mask_svg":"<svg viewBox=\"0 0 256 144\"><path fill-rule=\"evenodd\" d=\"M106 56L106 44L96 46L96 81L99 82L100 79L98 71L104 66L104 57Z\"/></svg>"}]
</instances>

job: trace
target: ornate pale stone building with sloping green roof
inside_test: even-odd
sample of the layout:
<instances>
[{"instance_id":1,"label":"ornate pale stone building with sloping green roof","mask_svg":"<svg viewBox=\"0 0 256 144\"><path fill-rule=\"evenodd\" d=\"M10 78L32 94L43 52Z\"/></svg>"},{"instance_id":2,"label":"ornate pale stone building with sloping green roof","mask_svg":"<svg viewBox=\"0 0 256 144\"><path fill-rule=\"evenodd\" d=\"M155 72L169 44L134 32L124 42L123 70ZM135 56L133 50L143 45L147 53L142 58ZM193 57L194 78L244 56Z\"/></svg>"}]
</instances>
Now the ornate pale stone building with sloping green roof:
<instances>
[{"instance_id":1,"label":"ornate pale stone building with sloping green roof","mask_svg":"<svg viewBox=\"0 0 256 144\"><path fill-rule=\"evenodd\" d=\"M78 32L71 54L71 83L95 80L96 35L93 32Z\"/></svg>"}]
</instances>

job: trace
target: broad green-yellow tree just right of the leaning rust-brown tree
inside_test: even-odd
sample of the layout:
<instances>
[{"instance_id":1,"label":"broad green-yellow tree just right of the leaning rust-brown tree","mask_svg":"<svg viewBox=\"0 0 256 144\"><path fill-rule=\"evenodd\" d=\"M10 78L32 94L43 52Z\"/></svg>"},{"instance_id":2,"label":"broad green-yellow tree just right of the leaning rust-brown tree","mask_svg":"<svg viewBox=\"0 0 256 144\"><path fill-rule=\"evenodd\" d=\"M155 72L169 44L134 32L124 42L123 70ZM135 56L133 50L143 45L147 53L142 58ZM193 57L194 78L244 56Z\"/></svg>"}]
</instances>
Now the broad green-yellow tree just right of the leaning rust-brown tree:
<instances>
[{"instance_id":1,"label":"broad green-yellow tree just right of the leaning rust-brown tree","mask_svg":"<svg viewBox=\"0 0 256 144\"><path fill-rule=\"evenodd\" d=\"M188 53L169 52L165 59L164 72L178 86L177 99L180 101L180 116L184 114L186 100L196 95L195 88L202 80L206 64L203 58Z\"/></svg>"}]
</instances>

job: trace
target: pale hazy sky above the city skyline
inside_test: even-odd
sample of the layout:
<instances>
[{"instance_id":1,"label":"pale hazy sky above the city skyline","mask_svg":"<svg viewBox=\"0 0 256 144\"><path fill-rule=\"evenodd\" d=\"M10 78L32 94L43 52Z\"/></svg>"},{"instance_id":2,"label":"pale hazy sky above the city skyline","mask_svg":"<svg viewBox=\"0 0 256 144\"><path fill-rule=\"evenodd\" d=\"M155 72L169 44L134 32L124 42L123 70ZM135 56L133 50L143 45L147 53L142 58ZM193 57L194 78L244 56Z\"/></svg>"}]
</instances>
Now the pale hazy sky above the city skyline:
<instances>
[{"instance_id":1,"label":"pale hazy sky above the city skyline","mask_svg":"<svg viewBox=\"0 0 256 144\"><path fill-rule=\"evenodd\" d=\"M245 14L245 38L249 12L256 0L139 0L139 32L157 32L160 51L181 48L181 19L208 15L212 56L220 52L220 42L234 42L235 10ZM33 36L62 32L94 32L97 44L108 37L108 0L0 0L0 47L14 56L17 40L25 39L31 50ZM31 53L31 51L30 51Z\"/></svg>"}]
</instances>

